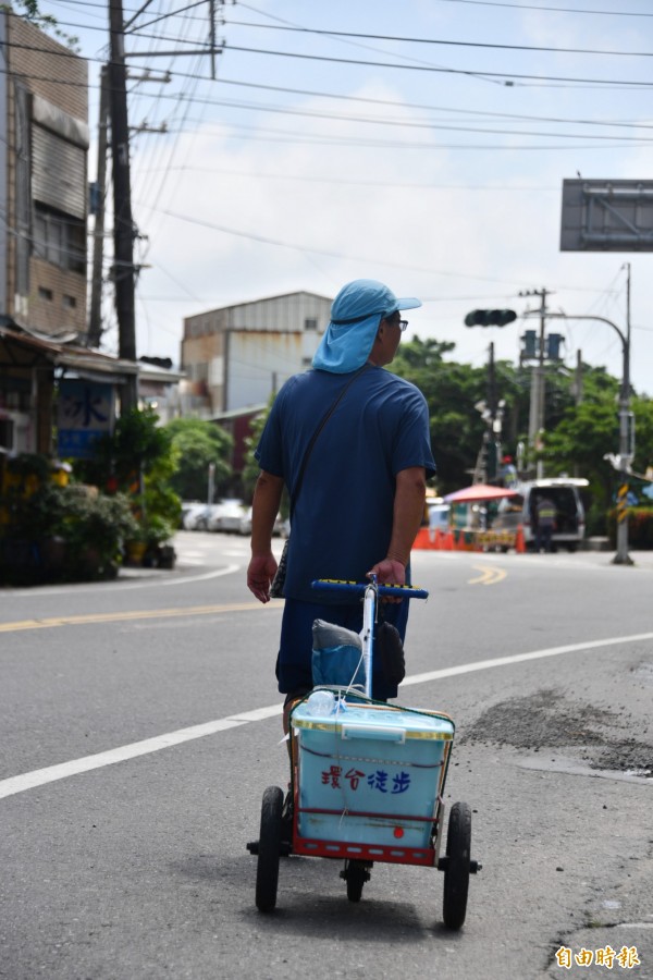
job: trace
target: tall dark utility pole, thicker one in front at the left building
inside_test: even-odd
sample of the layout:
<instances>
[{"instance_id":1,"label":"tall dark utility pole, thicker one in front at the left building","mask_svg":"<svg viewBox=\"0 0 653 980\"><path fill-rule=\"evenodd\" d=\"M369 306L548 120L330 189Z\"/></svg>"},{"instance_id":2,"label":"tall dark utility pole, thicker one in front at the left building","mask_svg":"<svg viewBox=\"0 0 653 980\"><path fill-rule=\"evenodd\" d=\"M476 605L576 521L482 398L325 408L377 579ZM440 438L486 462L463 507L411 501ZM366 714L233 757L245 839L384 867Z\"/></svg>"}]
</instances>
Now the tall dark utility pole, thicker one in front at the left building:
<instances>
[{"instance_id":1,"label":"tall dark utility pole, thicker one in front at the left building","mask_svg":"<svg viewBox=\"0 0 653 980\"><path fill-rule=\"evenodd\" d=\"M136 317L134 310L134 222L130 174L130 127L127 122L127 73L125 68L122 0L110 0L109 103L111 107L111 156L113 162L113 281L118 316L119 352L125 360L136 360ZM121 394L121 408L138 404L138 378L128 375Z\"/></svg>"}]
</instances>

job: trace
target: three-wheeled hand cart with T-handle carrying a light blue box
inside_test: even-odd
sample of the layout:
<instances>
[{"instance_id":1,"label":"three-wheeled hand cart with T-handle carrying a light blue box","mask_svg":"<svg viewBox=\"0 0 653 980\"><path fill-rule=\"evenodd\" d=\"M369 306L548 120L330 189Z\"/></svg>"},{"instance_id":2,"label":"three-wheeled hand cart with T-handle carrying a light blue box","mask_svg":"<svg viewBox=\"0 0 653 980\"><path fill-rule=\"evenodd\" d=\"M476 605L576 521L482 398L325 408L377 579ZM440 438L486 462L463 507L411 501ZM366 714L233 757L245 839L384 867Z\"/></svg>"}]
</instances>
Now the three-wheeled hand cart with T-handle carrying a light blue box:
<instances>
[{"instance_id":1,"label":"three-wheeled hand cart with T-handle carrying a light blue box","mask_svg":"<svg viewBox=\"0 0 653 980\"><path fill-rule=\"evenodd\" d=\"M343 684L313 688L291 711L292 840L284 835L284 794L269 786L261 808L256 904L276 905L280 857L344 860L347 897L359 902L374 862L417 865L444 872L443 919L459 929L467 910L471 809L452 806L445 854L444 784L455 725L441 712L401 708L371 698L377 604L384 597L426 599L408 586L316 581L317 589L355 591L364 598L365 690ZM284 836L286 840L284 840Z\"/></svg>"}]
</instances>

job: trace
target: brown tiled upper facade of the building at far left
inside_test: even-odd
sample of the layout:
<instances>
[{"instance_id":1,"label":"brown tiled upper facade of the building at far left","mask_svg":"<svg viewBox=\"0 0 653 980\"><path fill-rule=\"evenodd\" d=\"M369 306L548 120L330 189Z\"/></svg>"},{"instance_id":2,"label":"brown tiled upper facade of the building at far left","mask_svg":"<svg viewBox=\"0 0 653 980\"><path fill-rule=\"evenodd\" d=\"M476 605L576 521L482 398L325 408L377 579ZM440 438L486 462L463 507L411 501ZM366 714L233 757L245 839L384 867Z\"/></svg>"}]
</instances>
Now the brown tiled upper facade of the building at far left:
<instances>
[{"instance_id":1,"label":"brown tiled upper facade of the building at far left","mask_svg":"<svg viewBox=\"0 0 653 980\"><path fill-rule=\"evenodd\" d=\"M86 332L88 66L11 13L0 15L3 176L0 304L16 324Z\"/></svg>"}]
</instances>

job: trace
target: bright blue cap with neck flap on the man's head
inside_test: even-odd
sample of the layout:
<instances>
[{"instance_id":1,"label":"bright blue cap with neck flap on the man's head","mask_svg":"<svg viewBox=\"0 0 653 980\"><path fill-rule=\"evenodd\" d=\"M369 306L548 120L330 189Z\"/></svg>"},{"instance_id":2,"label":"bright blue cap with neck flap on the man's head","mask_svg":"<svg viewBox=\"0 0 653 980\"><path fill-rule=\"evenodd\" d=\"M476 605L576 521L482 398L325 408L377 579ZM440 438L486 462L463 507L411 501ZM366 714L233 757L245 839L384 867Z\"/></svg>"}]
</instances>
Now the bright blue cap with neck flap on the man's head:
<instances>
[{"instance_id":1,"label":"bright blue cap with neck flap on the man's head","mask_svg":"<svg viewBox=\"0 0 653 980\"><path fill-rule=\"evenodd\" d=\"M399 309L416 309L421 299L397 298L375 279L355 279L343 286L331 306L331 322L316 352L318 370L347 375L370 356L379 323Z\"/></svg>"}]
</instances>

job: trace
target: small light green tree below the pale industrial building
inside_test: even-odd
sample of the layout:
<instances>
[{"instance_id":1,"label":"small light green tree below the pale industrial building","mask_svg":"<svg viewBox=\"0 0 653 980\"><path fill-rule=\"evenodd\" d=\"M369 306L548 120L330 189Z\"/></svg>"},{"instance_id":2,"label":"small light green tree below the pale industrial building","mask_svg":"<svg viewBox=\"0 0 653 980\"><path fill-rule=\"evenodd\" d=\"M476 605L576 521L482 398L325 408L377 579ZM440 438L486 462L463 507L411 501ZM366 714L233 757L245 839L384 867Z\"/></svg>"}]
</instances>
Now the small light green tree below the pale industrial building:
<instances>
[{"instance_id":1,"label":"small light green tree below the pale industrial building","mask_svg":"<svg viewBox=\"0 0 653 980\"><path fill-rule=\"evenodd\" d=\"M233 448L224 429L199 418L175 418L163 431L171 439L174 457L170 483L182 500L205 500L211 464L217 491L224 489L232 477L229 457Z\"/></svg>"}]
</instances>

